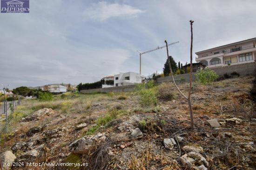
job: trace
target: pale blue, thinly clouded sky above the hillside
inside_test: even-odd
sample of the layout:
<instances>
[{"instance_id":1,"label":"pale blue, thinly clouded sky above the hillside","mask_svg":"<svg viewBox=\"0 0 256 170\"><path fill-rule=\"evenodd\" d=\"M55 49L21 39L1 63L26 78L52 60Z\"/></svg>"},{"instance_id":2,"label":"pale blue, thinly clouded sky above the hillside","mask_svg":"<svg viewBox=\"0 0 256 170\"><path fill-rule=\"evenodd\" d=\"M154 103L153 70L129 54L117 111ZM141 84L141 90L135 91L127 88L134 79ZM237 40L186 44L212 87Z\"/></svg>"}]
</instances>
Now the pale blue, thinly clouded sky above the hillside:
<instances>
[{"instance_id":1,"label":"pale blue, thinly clouded sky above the hillside","mask_svg":"<svg viewBox=\"0 0 256 170\"><path fill-rule=\"evenodd\" d=\"M169 46L176 63L256 37L256 0L30 0L30 13L0 13L0 85L96 82L139 72L139 54ZM142 75L162 71L166 49L142 55Z\"/></svg>"}]
</instances>

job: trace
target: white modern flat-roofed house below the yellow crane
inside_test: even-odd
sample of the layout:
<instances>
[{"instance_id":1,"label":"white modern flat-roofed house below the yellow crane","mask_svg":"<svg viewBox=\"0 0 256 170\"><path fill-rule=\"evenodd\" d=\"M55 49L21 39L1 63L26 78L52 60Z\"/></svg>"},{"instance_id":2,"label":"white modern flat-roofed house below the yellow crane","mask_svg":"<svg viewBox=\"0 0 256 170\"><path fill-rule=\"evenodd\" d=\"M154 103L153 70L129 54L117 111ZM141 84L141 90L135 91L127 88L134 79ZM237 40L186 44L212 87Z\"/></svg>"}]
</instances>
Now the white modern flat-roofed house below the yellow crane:
<instances>
[{"instance_id":1,"label":"white modern flat-roofed house below the yellow crane","mask_svg":"<svg viewBox=\"0 0 256 170\"><path fill-rule=\"evenodd\" d=\"M139 73L127 72L114 75L114 86L128 86L137 83L141 83L147 77L142 76Z\"/></svg>"}]
</instances>

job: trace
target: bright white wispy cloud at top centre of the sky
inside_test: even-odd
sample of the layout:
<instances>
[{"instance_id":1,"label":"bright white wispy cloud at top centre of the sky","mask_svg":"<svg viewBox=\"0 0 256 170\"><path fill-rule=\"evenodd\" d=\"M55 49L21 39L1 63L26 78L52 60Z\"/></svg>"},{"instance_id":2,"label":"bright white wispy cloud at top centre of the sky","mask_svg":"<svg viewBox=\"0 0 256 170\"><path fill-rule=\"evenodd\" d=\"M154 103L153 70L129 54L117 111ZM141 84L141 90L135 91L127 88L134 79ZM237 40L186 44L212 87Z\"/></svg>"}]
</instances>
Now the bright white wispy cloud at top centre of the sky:
<instances>
[{"instance_id":1,"label":"bright white wispy cloud at top centre of the sky","mask_svg":"<svg viewBox=\"0 0 256 170\"><path fill-rule=\"evenodd\" d=\"M110 4L107 2L94 3L91 7L84 11L85 19L93 19L104 21L110 18L117 17L134 17L140 13L144 13L140 9L136 9L133 6L126 4Z\"/></svg>"}]
</instances>

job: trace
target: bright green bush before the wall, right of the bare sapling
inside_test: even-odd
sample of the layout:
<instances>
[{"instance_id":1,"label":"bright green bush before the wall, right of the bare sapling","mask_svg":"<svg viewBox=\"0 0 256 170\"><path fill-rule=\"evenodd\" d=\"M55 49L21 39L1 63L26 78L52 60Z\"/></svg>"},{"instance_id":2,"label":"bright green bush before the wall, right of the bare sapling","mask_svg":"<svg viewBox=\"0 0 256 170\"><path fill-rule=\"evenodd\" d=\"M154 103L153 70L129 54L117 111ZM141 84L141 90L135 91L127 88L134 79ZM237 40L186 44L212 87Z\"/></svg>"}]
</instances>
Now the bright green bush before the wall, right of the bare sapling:
<instances>
[{"instance_id":1,"label":"bright green bush before the wall, right of the bare sapling","mask_svg":"<svg viewBox=\"0 0 256 170\"><path fill-rule=\"evenodd\" d=\"M195 77L203 85L212 85L219 76L213 70L202 69L195 74Z\"/></svg>"}]
</instances>

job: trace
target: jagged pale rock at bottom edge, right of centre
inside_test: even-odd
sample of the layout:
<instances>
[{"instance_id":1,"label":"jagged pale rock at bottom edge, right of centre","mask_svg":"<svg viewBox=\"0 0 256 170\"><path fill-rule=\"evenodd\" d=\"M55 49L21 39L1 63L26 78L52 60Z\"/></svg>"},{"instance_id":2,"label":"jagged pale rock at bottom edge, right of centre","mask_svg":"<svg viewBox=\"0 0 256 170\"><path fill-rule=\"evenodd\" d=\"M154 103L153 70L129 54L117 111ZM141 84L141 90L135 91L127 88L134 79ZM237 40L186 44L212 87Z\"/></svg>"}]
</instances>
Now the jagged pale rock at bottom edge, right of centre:
<instances>
[{"instance_id":1,"label":"jagged pale rock at bottom edge, right of centre","mask_svg":"<svg viewBox=\"0 0 256 170\"><path fill-rule=\"evenodd\" d=\"M206 161L205 157L198 152L189 152L188 154L184 154L182 157L180 157L180 160L182 164L193 170L207 170L206 167L209 166L209 163Z\"/></svg>"}]
</instances>

